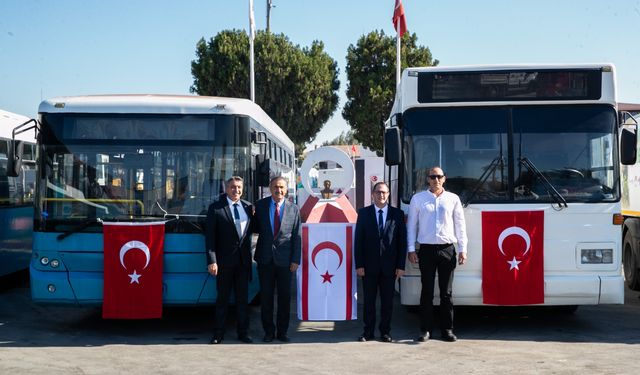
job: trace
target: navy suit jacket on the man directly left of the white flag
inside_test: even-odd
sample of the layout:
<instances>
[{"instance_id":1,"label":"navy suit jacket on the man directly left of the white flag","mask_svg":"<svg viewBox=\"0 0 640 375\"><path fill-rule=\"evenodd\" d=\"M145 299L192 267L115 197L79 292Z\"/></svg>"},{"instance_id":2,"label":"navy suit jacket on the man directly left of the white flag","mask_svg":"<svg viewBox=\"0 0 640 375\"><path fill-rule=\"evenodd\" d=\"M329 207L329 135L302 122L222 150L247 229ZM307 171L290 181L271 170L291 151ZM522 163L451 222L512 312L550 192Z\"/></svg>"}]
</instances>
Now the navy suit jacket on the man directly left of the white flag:
<instances>
[{"instance_id":1,"label":"navy suit jacket on the man directly left of the white flag","mask_svg":"<svg viewBox=\"0 0 640 375\"><path fill-rule=\"evenodd\" d=\"M259 265L275 264L279 267L289 267L291 263L300 264L302 251L302 226L300 225L300 210L295 204L285 201L280 231L275 238L271 229L269 208L271 197L256 202L254 217L254 233L258 233L255 261Z\"/></svg>"}]
</instances>

